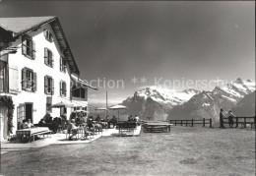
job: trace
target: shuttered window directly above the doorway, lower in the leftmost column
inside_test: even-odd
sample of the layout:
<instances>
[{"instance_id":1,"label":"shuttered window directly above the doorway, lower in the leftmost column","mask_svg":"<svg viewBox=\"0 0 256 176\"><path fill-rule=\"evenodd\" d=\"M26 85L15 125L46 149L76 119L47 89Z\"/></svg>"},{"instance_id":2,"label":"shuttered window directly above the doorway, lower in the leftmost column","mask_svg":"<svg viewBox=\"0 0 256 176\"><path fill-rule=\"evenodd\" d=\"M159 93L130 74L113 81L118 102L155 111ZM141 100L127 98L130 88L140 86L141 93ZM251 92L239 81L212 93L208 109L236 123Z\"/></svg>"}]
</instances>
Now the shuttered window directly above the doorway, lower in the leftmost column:
<instances>
[{"instance_id":1,"label":"shuttered window directly above the doorway, lower in the leftmost column","mask_svg":"<svg viewBox=\"0 0 256 176\"><path fill-rule=\"evenodd\" d=\"M22 89L26 91L36 91L36 73L31 69L22 70Z\"/></svg>"}]
</instances>

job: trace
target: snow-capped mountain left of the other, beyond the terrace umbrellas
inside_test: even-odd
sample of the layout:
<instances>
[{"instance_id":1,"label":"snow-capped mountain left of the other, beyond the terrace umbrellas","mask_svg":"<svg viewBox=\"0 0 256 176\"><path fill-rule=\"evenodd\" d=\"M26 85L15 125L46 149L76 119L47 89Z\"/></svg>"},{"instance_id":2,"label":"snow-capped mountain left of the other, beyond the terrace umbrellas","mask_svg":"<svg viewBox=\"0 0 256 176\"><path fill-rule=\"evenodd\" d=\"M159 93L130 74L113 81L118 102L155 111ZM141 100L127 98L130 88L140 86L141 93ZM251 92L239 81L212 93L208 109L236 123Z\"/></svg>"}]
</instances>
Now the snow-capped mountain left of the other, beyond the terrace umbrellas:
<instances>
[{"instance_id":1,"label":"snow-capped mountain left of the other, beyond the terrace umbrellas","mask_svg":"<svg viewBox=\"0 0 256 176\"><path fill-rule=\"evenodd\" d=\"M175 91L157 87L142 88L135 91L134 95L124 100L122 104L128 107L126 113L137 114L141 118L154 117L165 120L172 107L183 104L199 92L196 89Z\"/></svg>"}]
</instances>

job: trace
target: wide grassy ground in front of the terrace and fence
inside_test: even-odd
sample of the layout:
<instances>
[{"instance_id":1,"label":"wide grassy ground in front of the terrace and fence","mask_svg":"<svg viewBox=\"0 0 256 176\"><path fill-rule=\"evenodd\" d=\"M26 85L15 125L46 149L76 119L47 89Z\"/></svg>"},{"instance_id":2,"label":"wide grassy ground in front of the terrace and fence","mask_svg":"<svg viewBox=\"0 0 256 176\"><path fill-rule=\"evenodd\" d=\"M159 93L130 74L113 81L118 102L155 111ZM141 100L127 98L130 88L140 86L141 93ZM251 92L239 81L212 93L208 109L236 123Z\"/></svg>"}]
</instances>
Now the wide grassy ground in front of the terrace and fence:
<instances>
[{"instance_id":1,"label":"wide grassy ground in front of the terrace and fence","mask_svg":"<svg viewBox=\"0 0 256 176\"><path fill-rule=\"evenodd\" d=\"M171 133L11 151L4 175L255 175L251 130L173 127Z\"/></svg>"}]
</instances>

